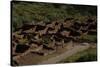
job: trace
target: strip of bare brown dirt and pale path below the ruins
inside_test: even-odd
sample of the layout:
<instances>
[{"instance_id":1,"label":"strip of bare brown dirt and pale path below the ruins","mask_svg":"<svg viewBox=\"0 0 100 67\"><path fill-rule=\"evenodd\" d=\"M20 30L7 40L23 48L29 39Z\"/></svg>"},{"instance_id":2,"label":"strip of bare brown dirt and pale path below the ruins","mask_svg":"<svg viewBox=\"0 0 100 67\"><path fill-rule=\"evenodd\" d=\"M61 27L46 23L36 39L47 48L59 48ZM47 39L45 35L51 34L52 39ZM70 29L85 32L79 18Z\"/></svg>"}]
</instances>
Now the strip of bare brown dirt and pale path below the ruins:
<instances>
[{"instance_id":1,"label":"strip of bare brown dirt and pale path below the ruins","mask_svg":"<svg viewBox=\"0 0 100 67\"><path fill-rule=\"evenodd\" d=\"M82 45L79 45L78 43L73 48L68 49L68 47L65 47L61 49L60 51L58 51L57 53L47 55L47 56L39 56L39 55L29 53L25 55L24 57L21 57L18 60L18 63L19 65L54 64L69 56L76 54L77 52L86 50L89 47L90 47L89 45L82 46Z\"/></svg>"}]
</instances>

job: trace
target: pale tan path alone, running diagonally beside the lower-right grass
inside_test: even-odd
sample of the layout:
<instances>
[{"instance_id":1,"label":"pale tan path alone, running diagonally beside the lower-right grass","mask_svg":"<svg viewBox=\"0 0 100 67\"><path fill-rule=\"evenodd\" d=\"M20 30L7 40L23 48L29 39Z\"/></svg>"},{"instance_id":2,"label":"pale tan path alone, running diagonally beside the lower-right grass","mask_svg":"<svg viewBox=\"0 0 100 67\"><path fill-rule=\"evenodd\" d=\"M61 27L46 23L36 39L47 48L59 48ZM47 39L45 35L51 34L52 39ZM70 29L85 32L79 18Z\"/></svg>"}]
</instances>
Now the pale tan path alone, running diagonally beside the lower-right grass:
<instances>
[{"instance_id":1,"label":"pale tan path alone, running diagonally beside the lower-right grass","mask_svg":"<svg viewBox=\"0 0 100 67\"><path fill-rule=\"evenodd\" d=\"M58 55L53 58L49 58L48 60L42 61L38 64L54 64L54 63L59 62L69 56L72 56L73 54L75 54L77 52L86 50L88 48L89 48L89 45L85 45L85 46L77 45L77 46L74 46L74 48L62 53L61 55Z\"/></svg>"}]
</instances>

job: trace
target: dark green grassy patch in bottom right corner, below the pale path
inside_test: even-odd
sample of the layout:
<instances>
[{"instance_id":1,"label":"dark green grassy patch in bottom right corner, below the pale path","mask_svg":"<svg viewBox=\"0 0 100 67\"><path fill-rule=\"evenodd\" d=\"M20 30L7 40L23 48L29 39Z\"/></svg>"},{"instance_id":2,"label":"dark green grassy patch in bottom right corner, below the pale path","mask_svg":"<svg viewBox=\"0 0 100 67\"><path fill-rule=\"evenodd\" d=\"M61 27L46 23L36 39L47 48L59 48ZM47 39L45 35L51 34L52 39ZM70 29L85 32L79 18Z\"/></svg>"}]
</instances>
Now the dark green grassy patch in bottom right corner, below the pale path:
<instances>
[{"instance_id":1,"label":"dark green grassy patch in bottom right corner, below the pale path","mask_svg":"<svg viewBox=\"0 0 100 67\"><path fill-rule=\"evenodd\" d=\"M59 63L68 63L68 62L88 62L88 61L96 61L97 60L97 49L90 47L87 50L79 52L75 55L72 55Z\"/></svg>"}]
</instances>

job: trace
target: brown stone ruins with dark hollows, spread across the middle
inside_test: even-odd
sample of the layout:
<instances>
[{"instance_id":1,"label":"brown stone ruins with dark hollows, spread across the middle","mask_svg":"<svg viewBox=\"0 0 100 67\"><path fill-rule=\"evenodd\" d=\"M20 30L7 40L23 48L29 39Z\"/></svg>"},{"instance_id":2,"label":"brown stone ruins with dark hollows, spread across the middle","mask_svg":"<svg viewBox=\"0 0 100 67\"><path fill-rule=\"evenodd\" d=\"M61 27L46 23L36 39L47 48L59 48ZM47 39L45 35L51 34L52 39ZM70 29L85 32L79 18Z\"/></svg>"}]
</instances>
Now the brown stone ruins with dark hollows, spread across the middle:
<instances>
[{"instance_id":1,"label":"brown stone ruins with dark hollows, spread across the middle","mask_svg":"<svg viewBox=\"0 0 100 67\"><path fill-rule=\"evenodd\" d=\"M63 22L53 21L42 24L25 24L12 33L12 59L34 53L40 56L52 54L68 46L69 42L78 41L81 35L96 34L96 19L77 22L67 18Z\"/></svg>"}]
</instances>

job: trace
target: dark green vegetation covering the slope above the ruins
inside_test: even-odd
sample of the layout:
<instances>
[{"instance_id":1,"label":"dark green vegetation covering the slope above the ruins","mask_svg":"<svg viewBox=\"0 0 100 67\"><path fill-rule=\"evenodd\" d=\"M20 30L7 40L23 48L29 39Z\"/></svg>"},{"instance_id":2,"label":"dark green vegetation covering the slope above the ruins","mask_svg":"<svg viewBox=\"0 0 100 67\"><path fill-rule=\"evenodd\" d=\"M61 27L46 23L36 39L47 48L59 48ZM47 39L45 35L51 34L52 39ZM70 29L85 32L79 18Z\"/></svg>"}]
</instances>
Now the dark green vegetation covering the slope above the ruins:
<instances>
[{"instance_id":1,"label":"dark green vegetation covering the slope above the ruins","mask_svg":"<svg viewBox=\"0 0 100 67\"><path fill-rule=\"evenodd\" d=\"M84 20L87 16L96 16L97 7L51 3L12 2L12 30L24 23L49 22L74 17Z\"/></svg>"}]
</instances>

